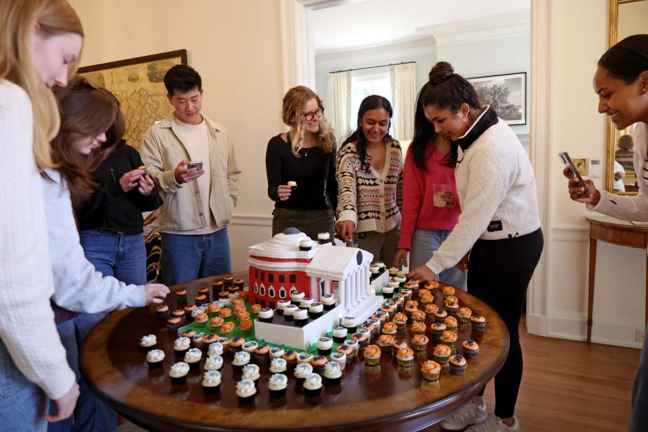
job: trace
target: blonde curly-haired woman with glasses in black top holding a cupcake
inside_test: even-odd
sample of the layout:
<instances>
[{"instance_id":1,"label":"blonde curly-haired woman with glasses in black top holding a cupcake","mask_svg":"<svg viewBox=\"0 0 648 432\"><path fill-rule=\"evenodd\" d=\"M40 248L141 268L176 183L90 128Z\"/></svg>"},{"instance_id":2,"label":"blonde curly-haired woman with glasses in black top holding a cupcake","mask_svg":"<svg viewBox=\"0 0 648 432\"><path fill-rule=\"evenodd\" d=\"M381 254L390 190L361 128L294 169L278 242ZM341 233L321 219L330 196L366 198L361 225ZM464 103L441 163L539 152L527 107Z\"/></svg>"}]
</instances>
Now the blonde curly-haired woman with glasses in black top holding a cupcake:
<instances>
[{"instance_id":1,"label":"blonde curly-haired woman with glasses in black top holding a cupcake","mask_svg":"<svg viewBox=\"0 0 648 432\"><path fill-rule=\"evenodd\" d=\"M282 119L290 131L272 137L265 153L268 196L275 202L272 235L295 227L312 239L328 233L332 240L338 183L324 104L310 88L291 88L283 97Z\"/></svg>"}]
</instances>

